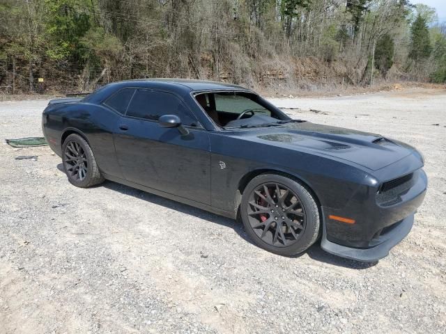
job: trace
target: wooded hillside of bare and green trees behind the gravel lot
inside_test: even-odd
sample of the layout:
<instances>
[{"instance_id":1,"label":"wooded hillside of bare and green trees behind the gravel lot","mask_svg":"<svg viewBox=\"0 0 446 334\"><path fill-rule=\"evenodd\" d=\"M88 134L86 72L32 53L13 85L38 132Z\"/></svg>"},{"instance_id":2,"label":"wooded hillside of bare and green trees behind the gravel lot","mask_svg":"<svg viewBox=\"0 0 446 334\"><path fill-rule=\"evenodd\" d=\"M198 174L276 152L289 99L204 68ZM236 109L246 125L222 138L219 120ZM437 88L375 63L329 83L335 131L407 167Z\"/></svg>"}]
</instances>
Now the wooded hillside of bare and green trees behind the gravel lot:
<instances>
[{"instance_id":1,"label":"wooded hillside of bare and green trees behind the gravel lot","mask_svg":"<svg viewBox=\"0 0 446 334\"><path fill-rule=\"evenodd\" d=\"M144 77L267 89L445 83L446 26L408 0L0 1L0 93Z\"/></svg>"}]
</instances>

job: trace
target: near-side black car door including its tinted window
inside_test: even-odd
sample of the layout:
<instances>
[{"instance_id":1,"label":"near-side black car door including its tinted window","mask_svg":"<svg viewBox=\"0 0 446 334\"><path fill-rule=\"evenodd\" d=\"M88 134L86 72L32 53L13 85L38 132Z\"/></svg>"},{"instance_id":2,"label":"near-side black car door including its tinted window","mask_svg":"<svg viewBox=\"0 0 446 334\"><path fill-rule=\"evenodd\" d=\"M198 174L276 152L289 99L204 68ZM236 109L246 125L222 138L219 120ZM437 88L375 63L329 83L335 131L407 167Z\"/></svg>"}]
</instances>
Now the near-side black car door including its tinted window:
<instances>
[{"instance_id":1,"label":"near-side black car door including its tinted window","mask_svg":"<svg viewBox=\"0 0 446 334\"><path fill-rule=\"evenodd\" d=\"M178 116L189 134L160 127L162 115ZM126 180L210 204L208 132L180 97L139 88L119 122L115 148Z\"/></svg>"}]
</instances>

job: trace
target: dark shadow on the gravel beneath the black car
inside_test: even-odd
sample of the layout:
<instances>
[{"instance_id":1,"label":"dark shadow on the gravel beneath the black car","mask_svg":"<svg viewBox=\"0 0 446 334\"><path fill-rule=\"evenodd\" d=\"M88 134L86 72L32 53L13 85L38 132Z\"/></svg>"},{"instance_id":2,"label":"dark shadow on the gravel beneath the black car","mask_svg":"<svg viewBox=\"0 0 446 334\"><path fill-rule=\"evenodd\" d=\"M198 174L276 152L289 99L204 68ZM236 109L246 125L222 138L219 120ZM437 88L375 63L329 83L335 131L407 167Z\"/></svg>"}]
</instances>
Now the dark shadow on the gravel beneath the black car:
<instances>
[{"instance_id":1,"label":"dark shadow on the gravel beneath the black car","mask_svg":"<svg viewBox=\"0 0 446 334\"><path fill-rule=\"evenodd\" d=\"M58 164L57 169L61 170L63 173L63 165ZM111 189L113 191L118 191L128 196L133 196L135 198L139 198L141 200L146 200L147 202L151 202L155 205L161 205L162 207L166 207L167 209L172 209L178 212L182 212L183 214L189 214L191 216L195 216L200 219L204 219L206 221L210 221L210 223L215 223L219 225L226 226L227 228L232 228L243 240L249 242L249 244L254 244L254 242L248 237L243 228L243 224L240 220L233 220L230 218L226 218L224 216L219 216L217 214L213 214L207 212L205 210L199 209L197 207L191 207L190 205L186 205L180 202L176 202L174 200L169 200L167 198L157 196L153 193L148 193L146 191L141 191L139 189L132 188L130 186L125 186L124 184L119 184L117 182L105 181L98 186L104 186L107 189ZM321 248L321 243L316 241L316 243L308 248L305 253L298 254L293 256L294 258L301 257L302 255L307 254L312 260L316 260L319 262L332 264L337 267L344 267L348 269L368 269L370 267L374 267L378 262L359 262L355 260L348 260L342 257L338 257L335 255L331 255L330 253L325 252ZM280 255L277 255L280 256Z\"/></svg>"}]
</instances>

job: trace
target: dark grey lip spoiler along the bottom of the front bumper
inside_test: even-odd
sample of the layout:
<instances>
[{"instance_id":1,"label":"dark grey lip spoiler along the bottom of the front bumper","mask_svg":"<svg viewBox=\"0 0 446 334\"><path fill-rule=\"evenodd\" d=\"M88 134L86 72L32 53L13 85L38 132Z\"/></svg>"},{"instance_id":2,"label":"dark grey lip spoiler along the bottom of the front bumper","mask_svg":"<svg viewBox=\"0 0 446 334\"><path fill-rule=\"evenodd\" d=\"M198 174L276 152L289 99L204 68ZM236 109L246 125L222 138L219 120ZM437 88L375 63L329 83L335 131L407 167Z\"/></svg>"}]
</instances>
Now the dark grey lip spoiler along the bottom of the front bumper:
<instances>
[{"instance_id":1,"label":"dark grey lip spoiler along the bottom of the front bumper","mask_svg":"<svg viewBox=\"0 0 446 334\"><path fill-rule=\"evenodd\" d=\"M321 248L326 252L345 257L346 259L362 262L376 262L389 255L390 249L406 237L413 226L414 214L404 218L402 221L393 225L392 230L386 234L381 234L376 240L376 246L370 248L353 248L334 244L327 239L325 230L322 236Z\"/></svg>"}]
</instances>

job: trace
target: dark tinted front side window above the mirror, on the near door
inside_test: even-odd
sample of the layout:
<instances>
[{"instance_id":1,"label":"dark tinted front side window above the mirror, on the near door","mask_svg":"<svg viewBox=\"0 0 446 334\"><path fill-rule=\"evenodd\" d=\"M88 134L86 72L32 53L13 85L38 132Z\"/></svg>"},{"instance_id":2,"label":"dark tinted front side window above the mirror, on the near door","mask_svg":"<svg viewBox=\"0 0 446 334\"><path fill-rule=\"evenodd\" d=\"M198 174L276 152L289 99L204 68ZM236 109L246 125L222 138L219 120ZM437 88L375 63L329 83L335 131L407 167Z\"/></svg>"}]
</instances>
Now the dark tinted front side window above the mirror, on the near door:
<instances>
[{"instance_id":1,"label":"dark tinted front side window above the mirror, on the near door","mask_svg":"<svg viewBox=\"0 0 446 334\"><path fill-rule=\"evenodd\" d=\"M125 114L147 120L158 120L163 115L176 115L183 125L197 126L197 120L178 97L158 90L137 90Z\"/></svg>"}]
</instances>

